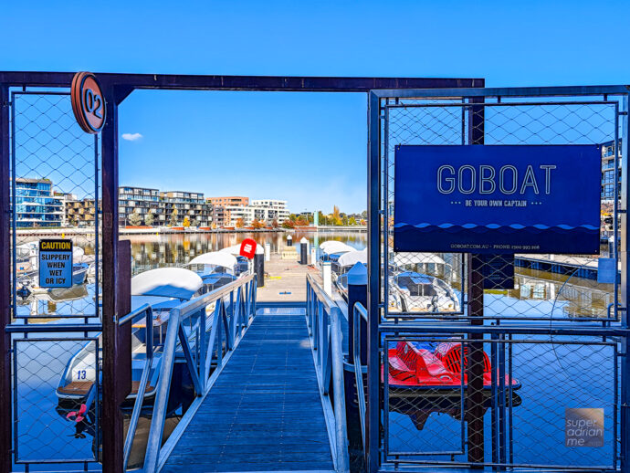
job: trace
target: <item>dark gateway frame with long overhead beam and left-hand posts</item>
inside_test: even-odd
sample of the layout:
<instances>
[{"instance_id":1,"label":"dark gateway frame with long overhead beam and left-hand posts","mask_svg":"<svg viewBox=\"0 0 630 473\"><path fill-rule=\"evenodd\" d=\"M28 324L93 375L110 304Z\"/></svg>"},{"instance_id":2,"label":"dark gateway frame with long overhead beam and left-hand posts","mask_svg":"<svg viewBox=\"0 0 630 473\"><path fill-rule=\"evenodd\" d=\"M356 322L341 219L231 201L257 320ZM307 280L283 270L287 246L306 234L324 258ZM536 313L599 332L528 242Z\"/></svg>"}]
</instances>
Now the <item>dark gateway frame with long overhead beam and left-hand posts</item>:
<instances>
[{"instance_id":1,"label":"dark gateway frame with long overhead beam and left-hand posts","mask_svg":"<svg viewBox=\"0 0 630 473\"><path fill-rule=\"evenodd\" d=\"M0 71L0 272L11 268L10 187L10 89L69 89L74 72ZM117 396L121 382L116 376L116 360L121 351L118 320L126 314L124 295L117 285L118 265L118 107L135 89L163 90L236 90L236 91L302 91L351 92L368 94L371 89L391 88L457 88L479 87L484 79L433 78L365 78L365 77L286 77L286 76L220 76L96 73L107 102L107 121L100 136L102 226L102 313L103 366L101 428L103 432L103 471L122 470L123 426L118 415ZM58 325L59 330L71 327ZM0 278L0 405L10 405L11 385L11 289L10 281ZM100 328L93 327L97 330ZM11 412L0 410L0 473L11 469Z\"/></svg>"}]
</instances>

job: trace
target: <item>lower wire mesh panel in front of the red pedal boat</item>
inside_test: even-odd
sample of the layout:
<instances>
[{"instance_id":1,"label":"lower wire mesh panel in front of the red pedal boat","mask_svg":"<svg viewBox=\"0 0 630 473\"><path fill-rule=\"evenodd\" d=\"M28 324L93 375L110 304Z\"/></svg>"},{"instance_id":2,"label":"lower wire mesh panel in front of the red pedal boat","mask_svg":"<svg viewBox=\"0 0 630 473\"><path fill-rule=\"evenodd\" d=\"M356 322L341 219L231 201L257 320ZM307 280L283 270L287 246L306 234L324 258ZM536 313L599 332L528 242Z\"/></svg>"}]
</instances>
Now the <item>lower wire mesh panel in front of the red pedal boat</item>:
<instances>
[{"instance_id":1,"label":"lower wire mesh panel in front of the red pedal boat","mask_svg":"<svg viewBox=\"0 0 630 473\"><path fill-rule=\"evenodd\" d=\"M616 468L616 342L547 335L472 342L453 333L387 337L384 346L385 461L464 465L480 448L476 462L488 466Z\"/></svg>"}]
</instances>

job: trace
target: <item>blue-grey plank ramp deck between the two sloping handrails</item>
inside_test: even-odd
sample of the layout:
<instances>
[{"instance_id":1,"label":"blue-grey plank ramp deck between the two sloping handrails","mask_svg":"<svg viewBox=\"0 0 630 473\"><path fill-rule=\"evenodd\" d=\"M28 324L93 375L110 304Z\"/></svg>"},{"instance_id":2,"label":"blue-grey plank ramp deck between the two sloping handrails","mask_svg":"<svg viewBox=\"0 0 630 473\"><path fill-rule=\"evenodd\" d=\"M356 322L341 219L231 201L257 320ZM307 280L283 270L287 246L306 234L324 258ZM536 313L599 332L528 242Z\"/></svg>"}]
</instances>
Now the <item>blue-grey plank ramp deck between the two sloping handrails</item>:
<instances>
[{"instance_id":1,"label":"blue-grey plank ramp deck between the two sloping handrails","mask_svg":"<svg viewBox=\"0 0 630 473\"><path fill-rule=\"evenodd\" d=\"M259 309L162 471L333 469L304 309Z\"/></svg>"}]
</instances>

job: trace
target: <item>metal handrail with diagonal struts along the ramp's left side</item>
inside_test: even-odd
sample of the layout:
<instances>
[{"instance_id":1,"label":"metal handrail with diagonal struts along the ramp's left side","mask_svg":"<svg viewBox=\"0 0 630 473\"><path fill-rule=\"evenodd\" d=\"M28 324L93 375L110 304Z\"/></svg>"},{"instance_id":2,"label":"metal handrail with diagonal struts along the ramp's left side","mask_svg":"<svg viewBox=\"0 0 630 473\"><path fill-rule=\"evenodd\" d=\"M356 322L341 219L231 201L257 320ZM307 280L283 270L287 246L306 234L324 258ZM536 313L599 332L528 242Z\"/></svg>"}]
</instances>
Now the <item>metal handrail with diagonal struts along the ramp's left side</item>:
<instances>
[{"instance_id":1,"label":"metal handrail with diagonal struts along the ramp's left side","mask_svg":"<svg viewBox=\"0 0 630 473\"><path fill-rule=\"evenodd\" d=\"M245 290L244 290L245 289ZM234 297L236 293L236 298ZM246 278L237 279L224 287L215 289L194 300L189 300L173 308L170 312L168 327L163 345L163 358L160 367L151 429L147 440L147 449L144 457L143 471L151 473L158 470L163 461L162 440L164 421L166 420L166 406L171 388L173 375L173 363L177 341L179 340L188 370L193 378L195 394L197 397L205 395L211 387L209 383L210 368L215 357L217 369L223 367L223 328L225 328L226 352L234 350L237 342L243 336L243 329L248 326L256 315L257 275L248 275ZM226 296L230 296L229 310L226 309ZM206 316L205 310L215 302L215 311L212 317L210 339L206 344ZM229 317L228 317L229 311ZM197 314L200 316L199 328L195 331L198 359L194 360L188 338L186 337L183 321ZM228 320L229 319L229 320ZM184 415L185 416L185 415ZM183 424L184 420L180 421Z\"/></svg>"}]
</instances>

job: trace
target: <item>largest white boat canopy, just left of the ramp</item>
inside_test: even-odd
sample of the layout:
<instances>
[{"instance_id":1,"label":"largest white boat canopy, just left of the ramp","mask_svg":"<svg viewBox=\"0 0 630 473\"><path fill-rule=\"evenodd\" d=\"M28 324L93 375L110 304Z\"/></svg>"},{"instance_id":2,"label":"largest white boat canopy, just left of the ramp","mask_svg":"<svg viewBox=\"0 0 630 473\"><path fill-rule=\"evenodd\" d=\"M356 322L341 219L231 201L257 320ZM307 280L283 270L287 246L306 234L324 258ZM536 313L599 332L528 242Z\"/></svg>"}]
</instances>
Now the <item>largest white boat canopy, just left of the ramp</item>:
<instances>
[{"instance_id":1,"label":"largest white boat canopy, just left of the ramp","mask_svg":"<svg viewBox=\"0 0 630 473\"><path fill-rule=\"evenodd\" d=\"M203 284L199 275L190 269L150 269L131 278L131 295L190 299Z\"/></svg>"}]
</instances>

